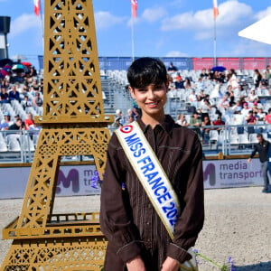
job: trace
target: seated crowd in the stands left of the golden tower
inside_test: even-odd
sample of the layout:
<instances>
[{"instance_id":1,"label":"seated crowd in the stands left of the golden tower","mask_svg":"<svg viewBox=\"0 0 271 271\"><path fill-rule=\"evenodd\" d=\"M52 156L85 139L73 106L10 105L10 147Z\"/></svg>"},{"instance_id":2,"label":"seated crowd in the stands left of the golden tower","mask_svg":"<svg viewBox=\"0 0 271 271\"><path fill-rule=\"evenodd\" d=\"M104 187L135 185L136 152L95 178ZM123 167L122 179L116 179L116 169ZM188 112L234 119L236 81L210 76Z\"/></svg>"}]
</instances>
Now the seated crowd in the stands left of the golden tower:
<instances>
[{"instance_id":1,"label":"seated crowd in the stands left of the golden tower","mask_svg":"<svg viewBox=\"0 0 271 271\"><path fill-rule=\"evenodd\" d=\"M28 130L32 131L30 135L33 137L40 130L34 124L33 116L39 115L43 104L43 79L39 79L33 66L18 70L6 67L7 74L0 77L0 130L9 131L6 135Z\"/></svg>"}]
</instances>

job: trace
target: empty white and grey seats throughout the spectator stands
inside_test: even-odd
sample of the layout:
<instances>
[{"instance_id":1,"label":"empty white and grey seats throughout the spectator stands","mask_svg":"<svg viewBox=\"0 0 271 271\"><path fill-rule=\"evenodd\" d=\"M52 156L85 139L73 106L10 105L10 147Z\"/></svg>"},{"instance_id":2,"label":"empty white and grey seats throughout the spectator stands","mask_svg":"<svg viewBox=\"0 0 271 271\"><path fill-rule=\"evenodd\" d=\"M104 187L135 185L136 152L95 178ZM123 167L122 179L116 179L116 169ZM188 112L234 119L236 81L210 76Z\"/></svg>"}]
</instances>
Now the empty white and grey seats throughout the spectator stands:
<instances>
[{"instance_id":1,"label":"empty white and grey seats throughout the spectator stands","mask_svg":"<svg viewBox=\"0 0 271 271\"><path fill-rule=\"evenodd\" d=\"M198 81L201 70L179 70L182 75L182 78L185 77L192 79L192 89L195 89L196 94L200 93L201 89L197 89L195 82ZM248 96L250 89L254 87L254 70L237 70L238 79L245 79L248 84L248 89L240 91L239 89L234 89L234 96L236 99L241 96ZM127 89L127 79L126 79L126 70L100 70L101 76L101 85L102 85L102 95L104 101L104 109L106 114L115 114L117 108L122 112L126 112L128 108L133 107L133 100L130 97L129 91ZM212 80L204 80L204 93L211 94L217 83ZM165 113L171 114L173 117L177 117L179 114L185 114L186 119L189 121L189 118L192 112L188 112L188 107L191 106L191 103L188 99L189 95L192 93L192 89L173 89L170 90L167 94L168 103L165 106ZM227 91L227 84L222 84L220 86L221 95L224 95ZM261 100L261 107L264 108L264 111L267 111L271 107L271 97L269 100L269 91L266 89L256 89L256 94ZM219 107L220 98L213 98L212 102L216 107ZM197 108L201 106L201 102L198 102ZM252 103L248 104L249 107L252 107ZM220 113L222 119L225 120L226 125L232 125L232 114L228 109L220 107ZM43 107L26 107L23 110L20 102L14 100L10 104L1 104L0 105L0 120L4 119L4 113L9 112L11 119L14 120L15 115L19 115L24 119L27 113L32 113L33 116L42 116ZM210 109L210 120L214 121L218 117L217 110L215 107ZM265 126L265 125L262 125ZM255 134L243 134L238 135L236 133L236 127L233 127L232 130L235 132L229 132L229 130L220 130L220 133L217 130L210 130L210 142L212 145L224 145L225 143L232 146L237 145L253 145L257 143L256 133ZM23 135L22 135L23 136ZM265 132L265 138L267 134ZM20 152L20 151L30 151L33 152L34 146L37 144L38 135L33 135L33 140L24 140L21 139L21 142L17 139L14 140L14 136L2 135L0 134L0 152ZM22 137L23 138L23 137ZM31 139L29 137L29 139ZM268 138L267 138L268 139Z\"/></svg>"}]
</instances>

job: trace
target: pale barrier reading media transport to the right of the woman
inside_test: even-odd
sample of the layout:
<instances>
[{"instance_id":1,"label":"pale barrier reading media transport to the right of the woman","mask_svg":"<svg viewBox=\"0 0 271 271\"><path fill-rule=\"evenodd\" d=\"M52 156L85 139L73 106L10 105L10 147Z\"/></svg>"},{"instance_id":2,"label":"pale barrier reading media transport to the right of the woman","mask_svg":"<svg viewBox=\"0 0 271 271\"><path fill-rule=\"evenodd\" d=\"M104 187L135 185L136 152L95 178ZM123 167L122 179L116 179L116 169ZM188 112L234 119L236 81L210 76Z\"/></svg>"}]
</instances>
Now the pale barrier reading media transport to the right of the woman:
<instances>
[{"instance_id":1,"label":"pale barrier reading media transport to the right of the woman","mask_svg":"<svg viewBox=\"0 0 271 271\"><path fill-rule=\"evenodd\" d=\"M264 181L258 158L209 160L203 162L204 188L262 186Z\"/></svg>"}]
</instances>

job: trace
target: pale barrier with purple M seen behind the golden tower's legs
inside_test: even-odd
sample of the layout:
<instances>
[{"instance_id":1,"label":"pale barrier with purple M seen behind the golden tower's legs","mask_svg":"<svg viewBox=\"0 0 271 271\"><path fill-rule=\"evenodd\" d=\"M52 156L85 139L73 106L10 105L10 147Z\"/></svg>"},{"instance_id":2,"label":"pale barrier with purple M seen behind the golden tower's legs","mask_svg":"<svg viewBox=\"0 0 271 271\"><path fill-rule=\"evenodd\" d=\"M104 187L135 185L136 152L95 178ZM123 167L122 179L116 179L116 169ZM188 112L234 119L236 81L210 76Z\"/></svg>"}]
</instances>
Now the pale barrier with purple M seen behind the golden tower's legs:
<instances>
[{"instance_id":1,"label":"pale barrier with purple M seen behind the golden tower's legs","mask_svg":"<svg viewBox=\"0 0 271 271\"><path fill-rule=\"evenodd\" d=\"M23 198L30 167L0 168L0 199ZM56 196L100 194L95 165L61 166Z\"/></svg>"}]
</instances>

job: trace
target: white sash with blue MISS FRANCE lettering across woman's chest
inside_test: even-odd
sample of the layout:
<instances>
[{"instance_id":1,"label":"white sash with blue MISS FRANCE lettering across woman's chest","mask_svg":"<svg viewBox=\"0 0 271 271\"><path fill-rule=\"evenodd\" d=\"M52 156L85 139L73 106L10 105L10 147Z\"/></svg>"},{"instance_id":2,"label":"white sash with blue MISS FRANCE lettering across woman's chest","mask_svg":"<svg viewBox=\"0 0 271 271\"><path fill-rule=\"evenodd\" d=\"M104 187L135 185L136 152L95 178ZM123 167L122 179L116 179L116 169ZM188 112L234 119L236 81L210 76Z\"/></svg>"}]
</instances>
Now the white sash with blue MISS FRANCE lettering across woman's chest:
<instances>
[{"instance_id":1,"label":"white sash with blue MISS FRANCE lettering across woman's chest","mask_svg":"<svg viewBox=\"0 0 271 271\"><path fill-rule=\"evenodd\" d=\"M120 127L115 133L154 210L173 240L174 226L180 214L180 204L172 183L164 173L163 166L137 122ZM188 250L188 253L191 254L192 259L182 263L181 270L198 270L192 248Z\"/></svg>"}]
</instances>

